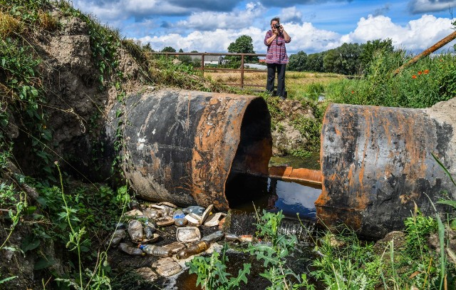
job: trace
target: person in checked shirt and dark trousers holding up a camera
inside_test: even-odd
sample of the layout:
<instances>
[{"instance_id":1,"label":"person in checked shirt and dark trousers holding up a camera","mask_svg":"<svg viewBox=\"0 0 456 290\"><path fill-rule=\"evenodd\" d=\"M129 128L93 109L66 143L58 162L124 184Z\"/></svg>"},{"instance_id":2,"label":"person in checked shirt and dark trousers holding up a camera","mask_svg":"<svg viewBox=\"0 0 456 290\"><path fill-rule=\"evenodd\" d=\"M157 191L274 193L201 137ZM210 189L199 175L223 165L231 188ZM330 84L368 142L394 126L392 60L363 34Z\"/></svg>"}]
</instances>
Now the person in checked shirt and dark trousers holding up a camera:
<instances>
[{"instance_id":1,"label":"person in checked shirt and dark trousers holding up a camera","mask_svg":"<svg viewBox=\"0 0 456 290\"><path fill-rule=\"evenodd\" d=\"M266 90L274 92L274 80L277 72L277 95L285 99L285 68L288 63L285 43L289 43L291 37L280 24L279 17L271 19L271 30L264 36L264 45L268 47L266 53L266 64L268 66L268 80Z\"/></svg>"}]
</instances>

